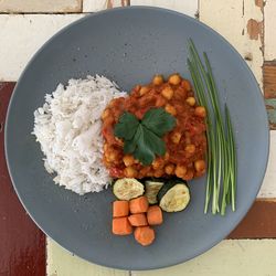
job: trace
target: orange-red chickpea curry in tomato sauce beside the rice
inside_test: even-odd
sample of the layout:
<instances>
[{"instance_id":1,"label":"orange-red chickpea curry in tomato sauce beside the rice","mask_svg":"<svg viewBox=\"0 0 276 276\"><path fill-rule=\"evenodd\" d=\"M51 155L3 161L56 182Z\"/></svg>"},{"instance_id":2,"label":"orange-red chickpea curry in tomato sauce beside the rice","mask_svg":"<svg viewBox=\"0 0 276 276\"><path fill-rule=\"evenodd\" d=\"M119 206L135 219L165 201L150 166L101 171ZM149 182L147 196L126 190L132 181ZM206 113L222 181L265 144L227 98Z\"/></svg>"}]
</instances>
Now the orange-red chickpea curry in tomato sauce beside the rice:
<instances>
[{"instance_id":1,"label":"orange-red chickpea curry in tomato sauce beside the rice","mask_svg":"<svg viewBox=\"0 0 276 276\"><path fill-rule=\"evenodd\" d=\"M114 128L125 112L140 120L150 108L163 108L176 118L176 126L162 137L164 155L144 166L132 155L124 153L124 139L115 136ZM150 84L135 86L128 97L113 99L102 114L103 162L114 178L177 176L191 180L200 177L206 167L205 116L205 108L197 104L189 81L179 74L167 81L156 75Z\"/></svg>"}]
</instances>

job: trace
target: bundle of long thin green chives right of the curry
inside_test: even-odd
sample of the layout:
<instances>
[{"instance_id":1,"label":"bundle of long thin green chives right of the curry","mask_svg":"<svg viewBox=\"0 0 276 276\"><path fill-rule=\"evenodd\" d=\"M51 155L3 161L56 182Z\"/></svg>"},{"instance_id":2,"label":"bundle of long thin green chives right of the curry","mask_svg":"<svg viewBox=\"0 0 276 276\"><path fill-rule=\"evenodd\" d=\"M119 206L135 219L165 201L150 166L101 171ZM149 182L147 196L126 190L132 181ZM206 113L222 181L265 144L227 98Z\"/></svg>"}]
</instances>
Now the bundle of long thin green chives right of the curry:
<instances>
[{"instance_id":1,"label":"bundle of long thin green chives right of the curry","mask_svg":"<svg viewBox=\"0 0 276 276\"><path fill-rule=\"evenodd\" d=\"M225 121L223 119L219 93L206 53L203 53L203 64L190 40L189 55L188 66L197 97L208 112L208 182L204 212L208 212L212 197L212 213L220 212L224 215L227 204L231 204L232 210L235 211L236 201L236 148L233 127L226 105Z\"/></svg>"}]
</instances>

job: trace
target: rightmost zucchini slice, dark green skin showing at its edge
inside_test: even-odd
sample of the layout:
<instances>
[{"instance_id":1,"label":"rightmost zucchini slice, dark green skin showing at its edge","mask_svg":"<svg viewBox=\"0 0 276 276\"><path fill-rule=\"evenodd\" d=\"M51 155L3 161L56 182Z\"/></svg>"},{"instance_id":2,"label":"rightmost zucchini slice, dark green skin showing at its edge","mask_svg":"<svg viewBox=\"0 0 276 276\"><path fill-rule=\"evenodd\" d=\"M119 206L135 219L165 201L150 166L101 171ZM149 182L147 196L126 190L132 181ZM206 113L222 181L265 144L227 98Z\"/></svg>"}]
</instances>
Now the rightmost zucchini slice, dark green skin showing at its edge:
<instances>
[{"instance_id":1,"label":"rightmost zucchini slice, dark green skin showing at its edge","mask_svg":"<svg viewBox=\"0 0 276 276\"><path fill-rule=\"evenodd\" d=\"M163 211L180 212L190 202L190 191L183 182L169 182L161 188L157 198Z\"/></svg>"}]
</instances>

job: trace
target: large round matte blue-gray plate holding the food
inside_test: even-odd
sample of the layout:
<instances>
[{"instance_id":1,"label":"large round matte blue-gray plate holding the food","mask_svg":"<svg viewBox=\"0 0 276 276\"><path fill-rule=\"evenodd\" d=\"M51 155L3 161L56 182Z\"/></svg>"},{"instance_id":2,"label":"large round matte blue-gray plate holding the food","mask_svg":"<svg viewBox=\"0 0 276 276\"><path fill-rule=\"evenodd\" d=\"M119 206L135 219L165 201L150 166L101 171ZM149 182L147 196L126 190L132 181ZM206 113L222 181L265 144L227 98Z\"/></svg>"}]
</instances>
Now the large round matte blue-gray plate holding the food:
<instances>
[{"instance_id":1,"label":"large round matte blue-gray plate holding the food","mask_svg":"<svg viewBox=\"0 0 276 276\"><path fill-rule=\"evenodd\" d=\"M33 110L45 93L71 77L104 74L124 89L156 73L187 68L187 39L206 51L226 98L237 144L237 211L203 214L205 179L190 183L184 212L164 215L153 245L110 232L110 191L78 197L45 172L34 137ZM13 93L6 125L6 153L18 195L36 224L68 251L91 262L125 269L164 267L190 259L225 237L246 214L259 190L268 156L268 126L258 85L243 59L217 33L183 14L157 8L104 11L54 35L26 66Z\"/></svg>"}]
</instances>

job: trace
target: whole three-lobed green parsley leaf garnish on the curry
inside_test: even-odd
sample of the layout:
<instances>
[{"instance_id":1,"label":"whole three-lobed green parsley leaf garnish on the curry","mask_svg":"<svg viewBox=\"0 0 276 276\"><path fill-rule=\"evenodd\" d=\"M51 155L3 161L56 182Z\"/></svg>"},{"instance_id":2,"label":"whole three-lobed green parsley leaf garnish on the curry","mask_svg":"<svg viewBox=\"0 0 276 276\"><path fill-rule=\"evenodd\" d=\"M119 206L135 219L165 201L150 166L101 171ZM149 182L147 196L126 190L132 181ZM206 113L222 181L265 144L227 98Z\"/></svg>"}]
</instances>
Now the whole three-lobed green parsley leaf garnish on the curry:
<instances>
[{"instance_id":1,"label":"whole three-lobed green parsley leaf garnish on the curry","mask_svg":"<svg viewBox=\"0 0 276 276\"><path fill-rule=\"evenodd\" d=\"M131 153L144 166L152 163L156 156L166 153L164 134L176 126L176 118L163 108L151 108L138 120L125 112L115 125L114 135L124 139L124 153Z\"/></svg>"}]
</instances>

